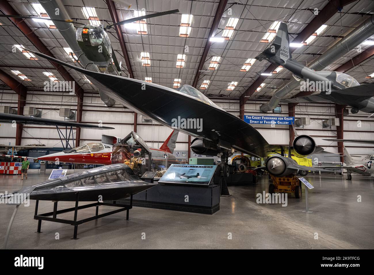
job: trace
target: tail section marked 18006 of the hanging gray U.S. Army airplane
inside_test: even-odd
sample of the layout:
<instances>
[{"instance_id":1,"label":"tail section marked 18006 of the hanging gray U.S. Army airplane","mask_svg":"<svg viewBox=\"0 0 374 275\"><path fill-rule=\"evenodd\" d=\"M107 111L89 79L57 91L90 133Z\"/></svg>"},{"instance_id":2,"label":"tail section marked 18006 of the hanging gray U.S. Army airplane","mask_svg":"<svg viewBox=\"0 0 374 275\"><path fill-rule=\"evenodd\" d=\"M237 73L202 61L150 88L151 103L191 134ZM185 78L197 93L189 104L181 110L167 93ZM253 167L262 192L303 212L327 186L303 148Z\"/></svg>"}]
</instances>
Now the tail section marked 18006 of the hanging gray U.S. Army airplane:
<instances>
[{"instance_id":1,"label":"tail section marked 18006 of the hanging gray U.S. Army airplane","mask_svg":"<svg viewBox=\"0 0 374 275\"><path fill-rule=\"evenodd\" d=\"M280 59L287 60L291 59L291 52L289 51L289 38L287 25L283 22L279 24L277 35L273 42L265 49L261 54L255 58L259 61L263 59L269 59L272 56L278 55Z\"/></svg>"}]
</instances>

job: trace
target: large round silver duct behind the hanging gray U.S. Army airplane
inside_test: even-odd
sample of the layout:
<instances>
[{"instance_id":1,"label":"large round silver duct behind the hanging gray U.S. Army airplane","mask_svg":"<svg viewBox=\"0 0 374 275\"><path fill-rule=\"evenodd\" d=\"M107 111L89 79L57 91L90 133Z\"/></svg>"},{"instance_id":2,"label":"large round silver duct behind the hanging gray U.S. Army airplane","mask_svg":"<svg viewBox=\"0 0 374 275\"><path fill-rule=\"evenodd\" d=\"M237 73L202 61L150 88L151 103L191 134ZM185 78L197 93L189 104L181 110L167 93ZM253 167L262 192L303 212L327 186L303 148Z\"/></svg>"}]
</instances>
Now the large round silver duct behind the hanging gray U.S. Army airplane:
<instances>
[{"instance_id":1,"label":"large round silver duct behind the hanging gray U.S. Army airplane","mask_svg":"<svg viewBox=\"0 0 374 275\"><path fill-rule=\"evenodd\" d=\"M337 42L334 46L328 49L324 54L319 56L315 61L313 61L308 68L321 71L336 59L340 58L344 54L347 54L350 50L354 49L370 36L374 34L374 15L371 15L370 18L365 20L361 25L347 34L343 39ZM260 106L260 110L266 113L271 111L278 106L280 101L283 98L286 98L287 95L296 89L299 85L299 82L291 79L286 84L282 85L274 92L273 97L268 103L265 103Z\"/></svg>"}]
</instances>

